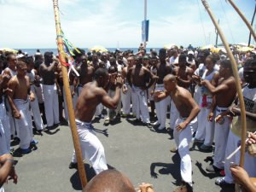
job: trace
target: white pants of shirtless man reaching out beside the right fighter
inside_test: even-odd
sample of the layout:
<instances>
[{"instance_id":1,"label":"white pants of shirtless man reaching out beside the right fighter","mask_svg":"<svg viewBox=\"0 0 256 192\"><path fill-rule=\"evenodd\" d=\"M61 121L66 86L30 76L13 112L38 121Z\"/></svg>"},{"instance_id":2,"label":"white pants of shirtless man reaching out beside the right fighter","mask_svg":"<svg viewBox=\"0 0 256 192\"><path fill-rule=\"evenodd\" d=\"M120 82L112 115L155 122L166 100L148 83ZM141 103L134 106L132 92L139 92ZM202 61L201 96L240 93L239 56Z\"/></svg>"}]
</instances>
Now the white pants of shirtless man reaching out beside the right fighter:
<instances>
[{"instance_id":1,"label":"white pants of shirtless man reaching out beside the right fighter","mask_svg":"<svg viewBox=\"0 0 256 192\"><path fill-rule=\"evenodd\" d=\"M216 108L216 117L219 113L225 111L227 108ZM213 166L218 167L219 169L224 168L224 158L225 158L225 151L227 147L227 138L229 137L230 132L230 119L228 117L224 117L224 124L219 125L215 123L215 133L214 133L214 140L215 140L215 150L214 150L214 157L213 157Z\"/></svg>"}]
</instances>

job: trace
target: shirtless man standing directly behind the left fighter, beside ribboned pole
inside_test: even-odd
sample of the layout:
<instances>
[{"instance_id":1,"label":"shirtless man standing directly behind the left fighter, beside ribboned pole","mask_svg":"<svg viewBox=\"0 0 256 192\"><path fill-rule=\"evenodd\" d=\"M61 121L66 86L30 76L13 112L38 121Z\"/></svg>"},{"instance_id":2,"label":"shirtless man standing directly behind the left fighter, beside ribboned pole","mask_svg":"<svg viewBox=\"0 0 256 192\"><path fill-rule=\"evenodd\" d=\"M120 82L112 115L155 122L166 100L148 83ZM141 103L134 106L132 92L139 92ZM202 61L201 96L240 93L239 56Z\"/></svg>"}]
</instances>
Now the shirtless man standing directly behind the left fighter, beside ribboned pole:
<instances>
[{"instance_id":1,"label":"shirtless man standing directly behind the left fighter, beside ribboned pole","mask_svg":"<svg viewBox=\"0 0 256 192\"><path fill-rule=\"evenodd\" d=\"M78 91L80 95L84 84L91 82L94 76L94 67L88 66L86 55L81 56L81 65L77 68L77 70L80 75L78 85Z\"/></svg>"}]
</instances>

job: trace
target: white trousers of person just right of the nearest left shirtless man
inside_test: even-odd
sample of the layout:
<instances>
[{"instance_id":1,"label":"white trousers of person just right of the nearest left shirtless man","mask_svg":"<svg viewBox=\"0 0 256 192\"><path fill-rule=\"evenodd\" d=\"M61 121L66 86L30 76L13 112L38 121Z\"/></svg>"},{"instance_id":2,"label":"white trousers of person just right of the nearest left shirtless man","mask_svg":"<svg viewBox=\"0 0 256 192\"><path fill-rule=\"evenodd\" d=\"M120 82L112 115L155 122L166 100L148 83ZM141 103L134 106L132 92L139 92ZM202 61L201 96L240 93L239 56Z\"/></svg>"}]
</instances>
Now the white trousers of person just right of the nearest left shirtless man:
<instances>
[{"instance_id":1,"label":"white trousers of person just right of the nearest left shirtless man","mask_svg":"<svg viewBox=\"0 0 256 192\"><path fill-rule=\"evenodd\" d=\"M33 119L34 119L37 130L43 130L44 129L44 124L43 124L43 120L42 120L42 117L41 117L39 104L38 104L38 97L37 97L37 94L36 94L36 89L35 89L34 84L31 85L31 90L32 90L32 92L35 96L35 100L33 102L30 102L30 107L31 107L31 110L32 110Z\"/></svg>"}]
</instances>

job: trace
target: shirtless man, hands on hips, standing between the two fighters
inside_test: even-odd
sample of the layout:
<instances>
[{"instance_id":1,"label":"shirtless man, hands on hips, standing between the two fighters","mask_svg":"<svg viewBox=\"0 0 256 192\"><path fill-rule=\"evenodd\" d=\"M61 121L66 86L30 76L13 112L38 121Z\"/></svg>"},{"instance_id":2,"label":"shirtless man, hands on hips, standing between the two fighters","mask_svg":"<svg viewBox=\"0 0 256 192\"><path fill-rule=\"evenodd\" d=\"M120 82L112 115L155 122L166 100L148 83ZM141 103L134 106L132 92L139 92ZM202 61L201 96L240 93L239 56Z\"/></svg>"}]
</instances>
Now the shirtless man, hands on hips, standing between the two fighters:
<instances>
[{"instance_id":1,"label":"shirtless man, hands on hips, standing between the two fighters","mask_svg":"<svg viewBox=\"0 0 256 192\"><path fill-rule=\"evenodd\" d=\"M150 79L148 85L147 81ZM132 91L135 93L137 109L136 109L136 116L137 119L134 123L140 123L140 117L142 117L142 121L144 124L151 128L149 120L149 113L148 113L148 96L147 91L148 88L154 83L156 76L151 73L148 68L143 67L143 57L137 56L137 63L136 66L132 67L128 74L127 80L131 86Z\"/></svg>"}]
</instances>

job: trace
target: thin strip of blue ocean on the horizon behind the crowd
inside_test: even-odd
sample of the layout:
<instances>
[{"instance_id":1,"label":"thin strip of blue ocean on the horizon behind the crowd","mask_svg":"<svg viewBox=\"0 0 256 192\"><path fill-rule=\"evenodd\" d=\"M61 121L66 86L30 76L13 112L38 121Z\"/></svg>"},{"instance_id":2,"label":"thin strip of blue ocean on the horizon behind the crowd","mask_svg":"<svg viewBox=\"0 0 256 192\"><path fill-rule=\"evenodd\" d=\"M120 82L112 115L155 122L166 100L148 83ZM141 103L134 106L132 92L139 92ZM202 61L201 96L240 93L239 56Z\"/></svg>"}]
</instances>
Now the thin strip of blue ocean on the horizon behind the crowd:
<instances>
[{"instance_id":1,"label":"thin strip of blue ocean on the horizon behind the crowd","mask_svg":"<svg viewBox=\"0 0 256 192\"><path fill-rule=\"evenodd\" d=\"M88 48L81 48L81 49L84 49L85 52L89 52L89 49ZM107 48L109 51L111 52L114 52L116 48ZM133 53L137 53L137 48L119 48L121 51L125 51L125 50L133 50ZM160 48L147 48L147 53L150 52L150 49L155 49L157 52L159 51ZM17 49L18 50L18 49ZM23 53L27 53L28 55L34 55L36 52L37 52L37 49L22 49L22 52ZM40 52L42 54L44 54L44 52L46 51L52 51L54 52L54 54L56 55L58 53L58 50L57 49L54 49L54 48L49 48L49 49L40 49Z\"/></svg>"}]
</instances>

